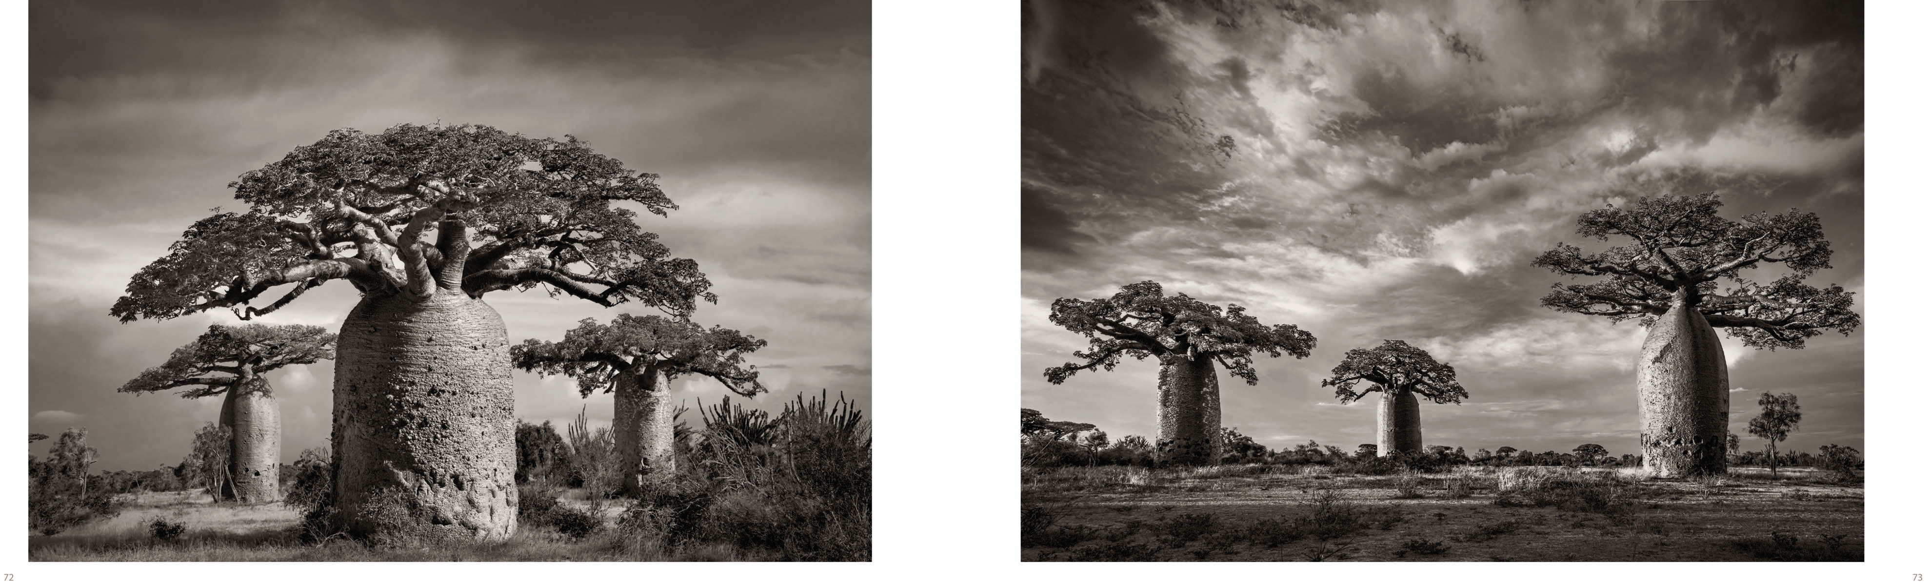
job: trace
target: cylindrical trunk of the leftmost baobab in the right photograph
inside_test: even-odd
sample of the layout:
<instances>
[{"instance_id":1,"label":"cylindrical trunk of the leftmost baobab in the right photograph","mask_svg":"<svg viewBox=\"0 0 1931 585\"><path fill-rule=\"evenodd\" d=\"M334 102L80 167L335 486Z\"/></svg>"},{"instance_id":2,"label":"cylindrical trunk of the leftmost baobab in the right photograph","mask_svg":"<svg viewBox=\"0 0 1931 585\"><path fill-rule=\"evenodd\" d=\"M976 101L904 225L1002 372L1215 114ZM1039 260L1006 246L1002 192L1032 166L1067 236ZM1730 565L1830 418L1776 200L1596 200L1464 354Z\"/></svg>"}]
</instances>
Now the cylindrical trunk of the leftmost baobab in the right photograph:
<instances>
[{"instance_id":1,"label":"cylindrical trunk of the leftmost baobab in the right photograph","mask_svg":"<svg viewBox=\"0 0 1931 585\"><path fill-rule=\"evenodd\" d=\"M1159 452L1168 463L1220 463L1220 380L1213 359L1161 359Z\"/></svg>"}]
</instances>

